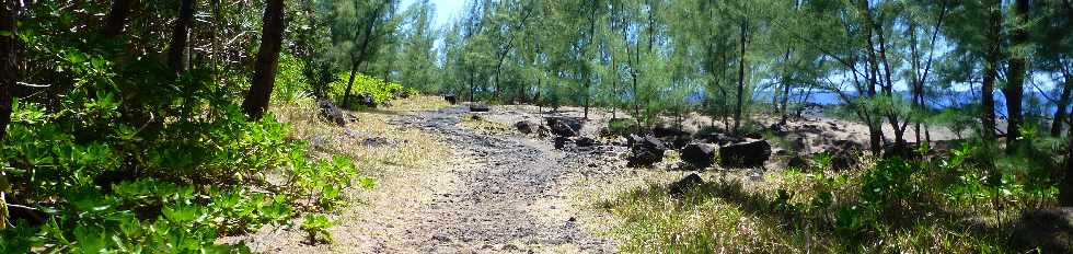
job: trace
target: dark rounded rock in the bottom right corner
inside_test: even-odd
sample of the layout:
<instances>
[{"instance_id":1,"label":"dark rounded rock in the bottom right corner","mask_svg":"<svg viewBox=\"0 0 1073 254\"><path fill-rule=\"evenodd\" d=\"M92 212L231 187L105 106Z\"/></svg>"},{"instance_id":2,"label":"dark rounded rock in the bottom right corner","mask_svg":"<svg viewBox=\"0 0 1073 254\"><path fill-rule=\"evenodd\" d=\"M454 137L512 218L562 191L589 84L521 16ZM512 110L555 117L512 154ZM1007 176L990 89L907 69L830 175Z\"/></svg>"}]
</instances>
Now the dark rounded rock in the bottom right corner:
<instances>
[{"instance_id":1,"label":"dark rounded rock in the bottom right corner","mask_svg":"<svg viewBox=\"0 0 1073 254\"><path fill-rule=\"evenodd\" d=\"M1022 250L1073 253L1073 207L1023 212L1014 223L1011 242Z\"/></svg>"}]
</instances>

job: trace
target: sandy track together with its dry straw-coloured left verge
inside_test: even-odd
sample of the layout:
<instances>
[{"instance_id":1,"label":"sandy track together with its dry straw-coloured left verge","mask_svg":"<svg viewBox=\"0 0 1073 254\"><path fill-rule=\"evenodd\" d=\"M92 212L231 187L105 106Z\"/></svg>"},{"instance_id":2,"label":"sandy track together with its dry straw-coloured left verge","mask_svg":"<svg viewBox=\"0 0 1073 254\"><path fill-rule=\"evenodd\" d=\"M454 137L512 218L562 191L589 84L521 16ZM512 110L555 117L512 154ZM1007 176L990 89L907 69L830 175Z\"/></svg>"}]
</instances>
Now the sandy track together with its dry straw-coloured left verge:
<instances>
[{"instance_id":1,"label":"sandy track together with its dry straw-coloured left verge","mask_svg":"<svg viewBox=\"0 0 1073 254\"><path fill-rule=\"evenodd\" d=\"M331 216L333 243L309 245L300 230L282 227L230 241L265 253L614 252L595 230L608 216L576 195L602 157L554 150L512 129L468 128L463 117L464 106L391 116L383 128L419 129L447 154L425 166L372 169L379 186L354 190L354 201Z\"/></svg>"}]
</instances>

